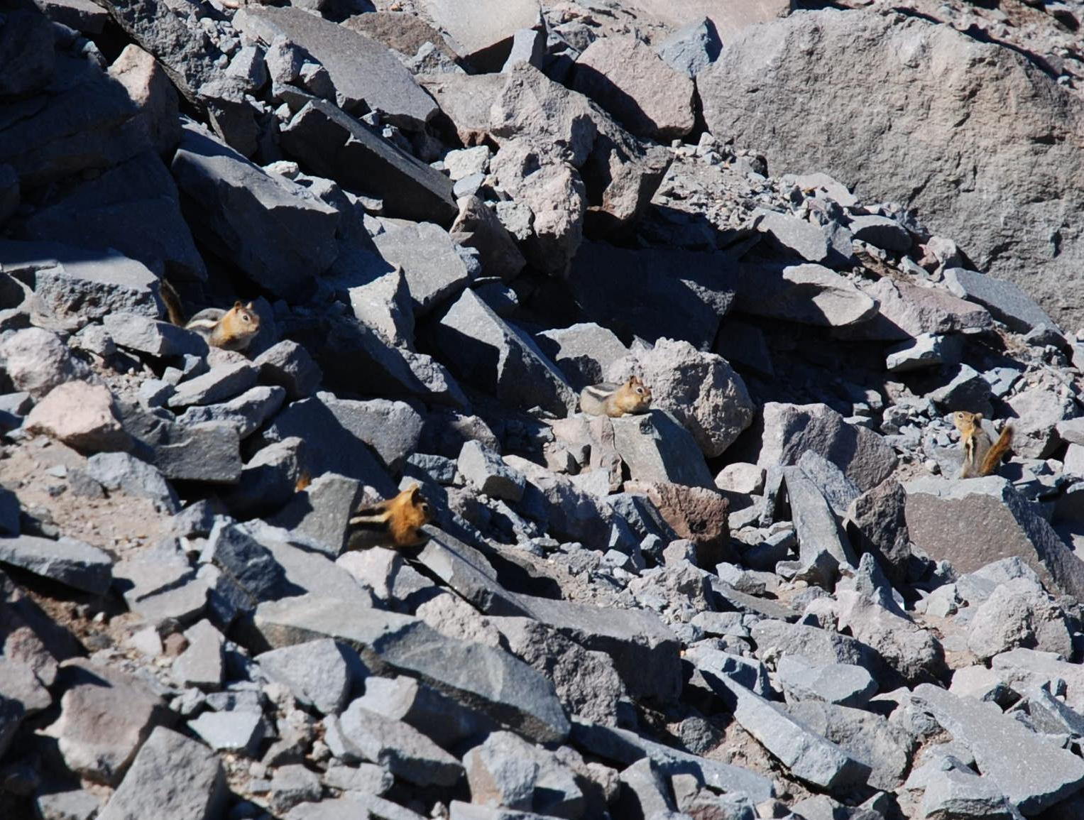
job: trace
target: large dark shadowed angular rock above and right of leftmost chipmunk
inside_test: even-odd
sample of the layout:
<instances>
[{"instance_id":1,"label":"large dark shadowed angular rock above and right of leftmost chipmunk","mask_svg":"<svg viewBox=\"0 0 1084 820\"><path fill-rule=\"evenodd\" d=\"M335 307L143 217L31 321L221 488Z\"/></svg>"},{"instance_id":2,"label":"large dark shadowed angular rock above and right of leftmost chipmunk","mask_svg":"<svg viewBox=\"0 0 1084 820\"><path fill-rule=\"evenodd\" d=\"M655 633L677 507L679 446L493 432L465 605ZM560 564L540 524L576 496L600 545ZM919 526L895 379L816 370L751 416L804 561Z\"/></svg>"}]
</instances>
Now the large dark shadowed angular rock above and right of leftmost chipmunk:
<instances>
[{"instance_id":1,"label":"large dark shadowed angular rock above and right of leftmost chipmunk","mask_svg":"<svg viewBox=\"0 0 1084 820\"><path fill-rule=\"evenodd\" d=\"M192 123L171 167L199 241L276 296L305 298L335 260L337 210Z\"/></svg>"}]
</instances>

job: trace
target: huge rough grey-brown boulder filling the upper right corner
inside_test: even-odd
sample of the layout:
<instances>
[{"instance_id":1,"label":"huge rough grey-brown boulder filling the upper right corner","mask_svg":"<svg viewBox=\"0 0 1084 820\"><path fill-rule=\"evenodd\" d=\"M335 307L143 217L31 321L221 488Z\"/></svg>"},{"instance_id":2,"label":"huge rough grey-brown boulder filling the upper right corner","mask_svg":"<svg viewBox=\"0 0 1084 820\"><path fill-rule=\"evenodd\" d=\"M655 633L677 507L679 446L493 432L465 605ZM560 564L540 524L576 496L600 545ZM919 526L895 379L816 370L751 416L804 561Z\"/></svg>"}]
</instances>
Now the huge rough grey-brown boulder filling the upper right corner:
<instances>
[{"instance_id":1,"label":"huge rough grey-brown boulder filling the upper right corner","mask_svg":"<svg viewBox=\"0 0 1084 820\"><path fill-rule=\"evenodd\" d=\"M1081 323L1084 243L1062 226L1084 202L1084 103L1069 89L918 15L826 10L723 39L697 77L717 137L763 151L774 174L816 167L861 198L915 208L982 269Z\"/></svg>"}]
</instances>

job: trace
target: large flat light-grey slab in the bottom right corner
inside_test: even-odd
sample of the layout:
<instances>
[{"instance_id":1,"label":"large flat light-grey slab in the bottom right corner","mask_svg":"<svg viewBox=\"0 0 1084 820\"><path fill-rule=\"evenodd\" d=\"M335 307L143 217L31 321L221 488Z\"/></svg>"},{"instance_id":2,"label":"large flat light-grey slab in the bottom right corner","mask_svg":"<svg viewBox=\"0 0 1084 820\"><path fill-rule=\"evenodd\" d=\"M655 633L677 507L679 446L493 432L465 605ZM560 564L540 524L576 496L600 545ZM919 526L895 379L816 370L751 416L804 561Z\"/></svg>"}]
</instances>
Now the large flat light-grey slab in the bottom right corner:
<instances>
[{"instance_id":1,"label":"large flat light-grey slab in the bottom right corner","mask_svg":"<svg viewBox=\"0 0 1084 820\"><path fill-rule=\"evenodd\" d=\"M914 696L953 738L975 755L1020 811L1034 815L1084 787L1084 761L1002 714L994 704L957 697L930 683Z\"/></svg>"}]
</instances>

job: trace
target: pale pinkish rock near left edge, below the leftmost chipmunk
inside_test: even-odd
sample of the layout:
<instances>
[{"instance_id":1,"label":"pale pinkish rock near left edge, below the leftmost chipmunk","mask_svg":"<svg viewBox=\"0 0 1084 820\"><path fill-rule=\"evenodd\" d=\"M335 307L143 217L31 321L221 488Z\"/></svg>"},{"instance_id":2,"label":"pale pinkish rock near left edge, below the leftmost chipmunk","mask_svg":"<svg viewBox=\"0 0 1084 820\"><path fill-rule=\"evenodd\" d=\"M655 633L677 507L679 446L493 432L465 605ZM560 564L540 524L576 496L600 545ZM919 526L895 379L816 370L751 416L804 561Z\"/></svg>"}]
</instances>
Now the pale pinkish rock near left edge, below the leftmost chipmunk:
<instances>
[{"instance_id":1,"label":"pale pinkish rock near left edge, below the leftmost chipmunk","mask_svg":"<svg viewBox=\"0 0 1084 820\"><path fill-rule=\"evenodd\" d=\"M131 447L131 439L113 412L113 394L104 385L87 382L54 387L26 417L24 430L90 452Z\"/></svg>"}]
</instances>

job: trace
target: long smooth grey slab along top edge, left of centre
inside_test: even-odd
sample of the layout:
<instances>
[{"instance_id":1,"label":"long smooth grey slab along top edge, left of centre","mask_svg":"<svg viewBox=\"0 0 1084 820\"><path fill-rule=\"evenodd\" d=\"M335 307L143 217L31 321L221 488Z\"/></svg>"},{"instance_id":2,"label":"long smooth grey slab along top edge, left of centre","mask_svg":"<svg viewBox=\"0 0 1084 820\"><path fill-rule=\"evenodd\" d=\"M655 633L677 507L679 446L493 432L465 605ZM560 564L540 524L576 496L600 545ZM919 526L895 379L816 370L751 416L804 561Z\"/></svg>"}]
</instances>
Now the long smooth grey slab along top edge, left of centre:
<instances>
[{"instance_id":1,"label":"long smooth grey slab along top edge, left of centre","mask_svg":"<svg viewBox=\"0 0 1084 820\"><path fill-rule=\"evenodd\" d=\"M388 49L365 35L296 8L245 7L233 25L271 44L281 35L327 69L336 101L351 112L364 102L401 128L422 130L437 113L433 101Z\"/></svg>"}]
</instances>

